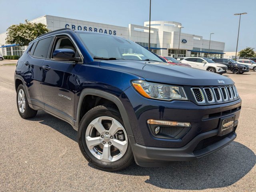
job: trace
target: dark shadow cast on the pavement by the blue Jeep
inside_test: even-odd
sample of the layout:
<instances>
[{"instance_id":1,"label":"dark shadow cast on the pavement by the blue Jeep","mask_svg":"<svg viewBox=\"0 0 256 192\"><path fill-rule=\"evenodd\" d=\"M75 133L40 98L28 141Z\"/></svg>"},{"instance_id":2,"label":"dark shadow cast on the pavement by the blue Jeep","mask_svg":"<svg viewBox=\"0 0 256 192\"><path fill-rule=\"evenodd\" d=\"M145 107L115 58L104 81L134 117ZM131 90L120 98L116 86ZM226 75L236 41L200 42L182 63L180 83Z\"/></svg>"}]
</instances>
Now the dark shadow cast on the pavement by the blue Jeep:
<instances>
[{"instance_id":1,"label":"dark shadow cast on the pavement by the blue Jeep","mask_svg":"<svg viewBox=\"0 0 256 192\"><path fill-rule=\"evenodd\" d=\"M77 132L68 123L39 111L35 118L77 142ZM203 190L230 186L256 164L256 156L246 146L232 142L218 152L190 162L170 162L168 167L144 168L133 164L115 174L149 176L146 183L164 189ZM90 163L89 166L92 166ZM93 166L92 166L93 167ZM99 170L101 171L101 170Z\"/></svg>"}]
</instances>

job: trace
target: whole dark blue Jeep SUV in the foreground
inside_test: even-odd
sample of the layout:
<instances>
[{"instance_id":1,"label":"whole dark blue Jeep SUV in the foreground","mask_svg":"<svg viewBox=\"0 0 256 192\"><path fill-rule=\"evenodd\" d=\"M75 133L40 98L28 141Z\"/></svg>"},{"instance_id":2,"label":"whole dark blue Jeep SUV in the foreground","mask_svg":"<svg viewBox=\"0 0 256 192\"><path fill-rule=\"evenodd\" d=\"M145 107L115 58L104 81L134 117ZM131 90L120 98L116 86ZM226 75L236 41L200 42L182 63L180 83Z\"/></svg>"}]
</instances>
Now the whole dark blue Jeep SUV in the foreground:
<instances>
[{"instance_id":1,"label":"whole dark blue Jeep SUV in the foreground","mask_svg":"<svg viewBox=\"0 0 256 192\"><path fill-rule=\"evenodd\" d=\"M44 110L68 122L84 157L104 170L211 154L236 138L241 109L230 78L166 64L125 38L69 29L29 44L15 88L22 118Z\"/></svg>"}]
</instances>

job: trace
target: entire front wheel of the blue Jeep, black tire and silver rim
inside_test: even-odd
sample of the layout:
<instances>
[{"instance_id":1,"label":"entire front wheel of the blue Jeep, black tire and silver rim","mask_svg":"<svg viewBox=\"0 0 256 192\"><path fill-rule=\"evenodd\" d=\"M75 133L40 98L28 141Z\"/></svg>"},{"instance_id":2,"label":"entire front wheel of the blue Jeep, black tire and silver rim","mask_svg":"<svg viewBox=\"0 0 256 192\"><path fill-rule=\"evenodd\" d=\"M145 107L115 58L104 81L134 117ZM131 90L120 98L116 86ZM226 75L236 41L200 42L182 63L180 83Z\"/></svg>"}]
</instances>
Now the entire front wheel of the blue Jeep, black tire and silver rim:
<instances>
[{"instance_id":1,"label":"entire front wheel of the blue Jeep, black tire and silver rim","mask_svg":"<svg viewBox=\"0 0 256 192\"><path fill-rule=\"evenodd\" d=\"M78 144L86 160L102 170L122 170L134 162L122 117L112 104L96 106L84 115L78 128Z\"/></svg>"}]
</instances>

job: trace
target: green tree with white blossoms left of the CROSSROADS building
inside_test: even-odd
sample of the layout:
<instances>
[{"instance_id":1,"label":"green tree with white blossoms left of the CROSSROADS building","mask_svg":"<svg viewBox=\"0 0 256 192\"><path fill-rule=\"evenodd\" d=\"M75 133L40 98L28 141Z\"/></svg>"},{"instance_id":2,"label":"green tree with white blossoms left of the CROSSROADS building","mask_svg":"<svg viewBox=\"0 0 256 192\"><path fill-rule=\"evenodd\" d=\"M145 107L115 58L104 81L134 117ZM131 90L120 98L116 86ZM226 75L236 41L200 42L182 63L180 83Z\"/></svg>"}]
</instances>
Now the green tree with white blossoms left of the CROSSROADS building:
<instances>
[{"instance_id":1,"label":"green tree with white blossoms left of the CROSSROADS building","mask_svg":"<svg viewBox=\"0 0 256 192\"><path fill-rule=\"evenodd\" d=\"M28 46L28 43L34 40L37 36L49 31L50 30L46 28L45 24L32 23L25 20L25 23L12 25L7 29L6 42L9 44Z\"/></svg>"}]
</instances>

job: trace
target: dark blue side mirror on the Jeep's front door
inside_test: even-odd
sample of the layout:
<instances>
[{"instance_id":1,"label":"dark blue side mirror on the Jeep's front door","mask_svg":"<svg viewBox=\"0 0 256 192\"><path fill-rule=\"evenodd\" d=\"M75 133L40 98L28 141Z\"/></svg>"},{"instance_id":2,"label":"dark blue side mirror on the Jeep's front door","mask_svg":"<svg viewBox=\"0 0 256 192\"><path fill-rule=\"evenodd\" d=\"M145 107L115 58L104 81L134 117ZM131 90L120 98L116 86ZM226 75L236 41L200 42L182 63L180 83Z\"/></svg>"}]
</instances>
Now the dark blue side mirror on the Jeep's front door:
<instances>
[{"instance_id":1,"label":"dark blue side mirror on the Jeep's front door","mask_svg":"<svg viewBox=\"0 0 256 192\"><path fill-rule=\"evenodd\" d=\"M75 57L75 52L72 49L56 49L52 57L55 60L59 61L76 61L79 62L81 60L80 57Z\"/></svg>"}]
</instances>

